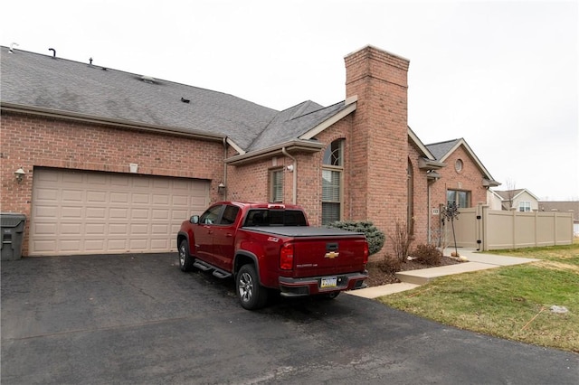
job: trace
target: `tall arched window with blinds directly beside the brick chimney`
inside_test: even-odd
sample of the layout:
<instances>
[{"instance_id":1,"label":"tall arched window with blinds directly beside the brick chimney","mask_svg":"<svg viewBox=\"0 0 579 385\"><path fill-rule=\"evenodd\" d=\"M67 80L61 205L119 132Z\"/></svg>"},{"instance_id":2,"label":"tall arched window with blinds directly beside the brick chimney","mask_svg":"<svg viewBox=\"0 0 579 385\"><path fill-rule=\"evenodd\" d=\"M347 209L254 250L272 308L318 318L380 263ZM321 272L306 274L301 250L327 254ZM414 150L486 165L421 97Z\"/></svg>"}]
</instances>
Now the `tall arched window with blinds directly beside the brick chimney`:
<instances>
[{"instance_id":1,"label":"tall arched window with blinds directly beside the brick chimney","mask_svg":"<svg viewBox=\"0 0 579 385\"><path fill-rule=\"evenodd\" d=\"M344 172L344 139L327 146L322 168L322 225L340 221L342 211L342 173Z\"/></svg>"}]
</instances>

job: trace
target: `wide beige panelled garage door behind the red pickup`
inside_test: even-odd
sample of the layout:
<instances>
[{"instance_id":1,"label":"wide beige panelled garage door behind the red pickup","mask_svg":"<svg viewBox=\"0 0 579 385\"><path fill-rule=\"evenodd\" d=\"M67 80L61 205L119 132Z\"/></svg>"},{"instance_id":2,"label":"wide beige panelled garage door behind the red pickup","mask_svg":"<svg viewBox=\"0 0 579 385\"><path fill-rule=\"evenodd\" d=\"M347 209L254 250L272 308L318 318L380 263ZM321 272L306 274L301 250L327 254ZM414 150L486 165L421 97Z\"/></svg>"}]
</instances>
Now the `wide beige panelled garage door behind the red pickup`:
<instances>
[{"instance_id":1,"label":"wide beige panelled garage door behind the red pickup","mask_svg":"<svg viewBox=\"0 0 579 385\"><path fill-rule=\"evenodd\" d=\"M31 256L176 250L182 221L209 203L209 182L34 170Z\"/></svg>"}]
</instances>

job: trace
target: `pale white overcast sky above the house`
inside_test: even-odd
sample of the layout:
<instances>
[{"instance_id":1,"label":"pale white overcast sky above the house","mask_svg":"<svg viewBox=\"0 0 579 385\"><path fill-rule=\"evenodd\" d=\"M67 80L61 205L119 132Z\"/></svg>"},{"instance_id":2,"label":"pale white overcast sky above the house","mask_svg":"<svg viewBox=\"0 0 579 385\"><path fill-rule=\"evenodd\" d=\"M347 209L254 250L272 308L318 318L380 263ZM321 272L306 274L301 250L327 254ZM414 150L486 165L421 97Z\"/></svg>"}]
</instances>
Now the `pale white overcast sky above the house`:
<instances>
[{"instance_id":1,"label":"pale white overcast sky above the house","mask_svg":"<svg viewBox=\"0 0 579 385\"><path fill-rule=\"evenodd\" d=\"M276 109L345 99L344 57L410 60L408 123L463 137L498 190L579 200L577 1L19 0L0 43Z\"/></svg>"}]
</instances>

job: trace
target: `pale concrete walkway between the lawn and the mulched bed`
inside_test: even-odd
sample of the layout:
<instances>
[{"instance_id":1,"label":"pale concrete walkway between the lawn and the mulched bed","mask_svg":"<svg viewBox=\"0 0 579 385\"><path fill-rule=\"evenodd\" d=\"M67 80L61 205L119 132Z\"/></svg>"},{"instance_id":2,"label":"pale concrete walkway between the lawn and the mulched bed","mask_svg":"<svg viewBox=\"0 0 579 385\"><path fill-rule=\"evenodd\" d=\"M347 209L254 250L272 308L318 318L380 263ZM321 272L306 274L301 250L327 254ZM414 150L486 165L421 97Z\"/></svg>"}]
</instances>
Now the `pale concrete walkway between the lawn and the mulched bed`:
<instances>
[{"instance_id":1,"label":"pale concrete walkway between the lawn and the mulched bed","mask_svg":"<svg viewBox=\"0 0 579 385\"><path fill-rule=\"evenodd\" d=\"M445 249L444 255L451 255L452 251L454 251L454 249ZM520 265L538 260L533 258L517 258L484 254L479 253L476 249L459 249L459 254L461 257L468 258L469 261L456 265L441 266L438 268L422 268L419 270L401 271L396 273L396 277L402 281L401 283L367 287L365 289L352 290L346 293L352 296L363 296L365 298L388 296L424 285L437 277L468 273L470 271L486 270L489 268L499 268L501 266Z\"/></svg>"}]
</instances>

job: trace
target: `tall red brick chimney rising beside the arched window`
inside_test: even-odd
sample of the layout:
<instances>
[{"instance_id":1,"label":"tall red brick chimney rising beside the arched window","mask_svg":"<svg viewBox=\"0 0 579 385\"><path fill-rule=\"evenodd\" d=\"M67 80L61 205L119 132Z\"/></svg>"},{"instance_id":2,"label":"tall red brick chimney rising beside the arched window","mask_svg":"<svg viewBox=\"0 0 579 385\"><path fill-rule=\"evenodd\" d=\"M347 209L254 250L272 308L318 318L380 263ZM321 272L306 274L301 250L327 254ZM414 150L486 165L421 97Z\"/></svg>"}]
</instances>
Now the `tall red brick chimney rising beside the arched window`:
<instances>
[{"instance_id":1,"label":"tall red brick chimney rising beside the arched window","mask_svg":"<svg viewBox=\"0 0 579 385\"><path fill-rule=\"evenodd\" d=\"M351 185L356 186L352 217L374 221L387 238L394 235L395 221L407 221L410 62L372 46L344 60L346 98L357 96L348 159Z\"/></svg>"}]
</instances>

